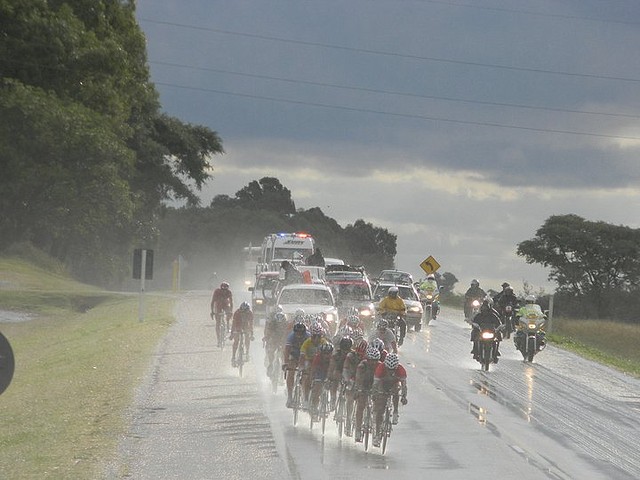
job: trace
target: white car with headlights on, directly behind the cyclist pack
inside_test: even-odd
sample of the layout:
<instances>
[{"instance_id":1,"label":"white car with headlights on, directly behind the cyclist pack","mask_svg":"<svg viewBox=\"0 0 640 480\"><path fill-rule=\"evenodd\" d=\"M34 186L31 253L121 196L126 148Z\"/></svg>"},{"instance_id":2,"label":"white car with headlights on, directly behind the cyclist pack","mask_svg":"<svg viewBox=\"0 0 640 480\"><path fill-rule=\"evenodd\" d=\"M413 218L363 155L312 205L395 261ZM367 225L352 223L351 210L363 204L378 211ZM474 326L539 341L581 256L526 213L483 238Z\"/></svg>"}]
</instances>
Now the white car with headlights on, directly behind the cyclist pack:
<instances>
[{"instance_id":1,"label":"white car with headlights on, directly behind the cyclist pack","mask_svg":"<svg viewBox=\"0 0 640 480\"><path fill-rule=\"evenodd\" d=\"M296 283L282 287L276 302L277 308L287 319L291 319L296 310L302 309L307 315L324 313L325 319L335 331L338 323L338 308L331 289L321 283Z\"/></svg>"}]
</instances>

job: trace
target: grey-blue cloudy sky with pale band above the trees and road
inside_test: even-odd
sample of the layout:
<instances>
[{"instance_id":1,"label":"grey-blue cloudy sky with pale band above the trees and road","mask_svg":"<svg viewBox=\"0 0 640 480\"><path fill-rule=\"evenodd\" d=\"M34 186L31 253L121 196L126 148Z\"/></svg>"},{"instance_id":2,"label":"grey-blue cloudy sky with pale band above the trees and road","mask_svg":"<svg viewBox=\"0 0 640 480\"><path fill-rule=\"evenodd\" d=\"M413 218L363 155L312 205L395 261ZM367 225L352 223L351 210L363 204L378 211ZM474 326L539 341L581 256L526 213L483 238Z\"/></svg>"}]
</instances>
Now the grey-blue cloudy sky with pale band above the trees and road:
<instances>
[{"instance_id":1,"label":"grey-blue cloudy sky with pale band above the trees and road","mask_svg":"<svg viewBox=\"0 0 640 480\"><path fill-rule=\"evenodd\" d=\"M640 227L637 0L138 0L165 111L222 137L208 205L277 177L298 208L472 278L551 215Z\"/></svg>"}]
</instances>

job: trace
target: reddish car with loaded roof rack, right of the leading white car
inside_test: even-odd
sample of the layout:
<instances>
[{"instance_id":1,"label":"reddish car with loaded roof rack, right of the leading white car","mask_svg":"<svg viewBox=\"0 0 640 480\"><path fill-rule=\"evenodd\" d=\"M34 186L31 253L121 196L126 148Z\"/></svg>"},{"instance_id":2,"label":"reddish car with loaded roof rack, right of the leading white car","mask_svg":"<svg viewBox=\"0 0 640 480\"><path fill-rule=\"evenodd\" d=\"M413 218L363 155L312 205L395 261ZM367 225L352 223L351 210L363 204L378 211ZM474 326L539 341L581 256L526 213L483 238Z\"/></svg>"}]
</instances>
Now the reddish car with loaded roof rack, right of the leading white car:
<instances>
[{"instance_id":1,"label":"reddish car with loaded roof rack, right of the leading white car","mask_svg":"<svg viewBox=\"0 0 640 480\"><path fill-rule=\"evenodd\" d=\"M329 265L326 267L326 283L336 298L340 318L344 319L352 308L356 308L360 320L370 330L375 318L375 308L371 284L364 268Z\"/></svg>"}]
</instances>

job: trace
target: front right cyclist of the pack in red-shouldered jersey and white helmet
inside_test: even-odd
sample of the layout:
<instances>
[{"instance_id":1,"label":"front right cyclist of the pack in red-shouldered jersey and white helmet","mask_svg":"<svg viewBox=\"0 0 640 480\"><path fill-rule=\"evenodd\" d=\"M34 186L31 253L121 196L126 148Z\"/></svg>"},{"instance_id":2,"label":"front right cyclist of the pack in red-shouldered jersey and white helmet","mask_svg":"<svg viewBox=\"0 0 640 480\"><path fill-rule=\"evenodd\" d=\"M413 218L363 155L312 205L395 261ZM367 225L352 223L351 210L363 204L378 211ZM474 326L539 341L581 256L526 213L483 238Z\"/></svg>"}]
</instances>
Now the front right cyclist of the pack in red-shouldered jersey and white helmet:
<instances>
[{"instance_id":1,"label":"front right cyclist of the pack in red-shouldered jersey and white helmet","mask_svg":"<svg viewBox=\"0 0 640 480\"><path fill-rule=\"evenodd\" d=\"M373 410L376 417L376 433L373 437L373 445L380 446L382 439L382 417L387 404L387 397L391 395L393 401L393 414L391 423L398 423L398 400L402 395L402 405L407 404L407 371L400 365L397 353L389 353L373 373Z\"/></svg>"}]
</instances>

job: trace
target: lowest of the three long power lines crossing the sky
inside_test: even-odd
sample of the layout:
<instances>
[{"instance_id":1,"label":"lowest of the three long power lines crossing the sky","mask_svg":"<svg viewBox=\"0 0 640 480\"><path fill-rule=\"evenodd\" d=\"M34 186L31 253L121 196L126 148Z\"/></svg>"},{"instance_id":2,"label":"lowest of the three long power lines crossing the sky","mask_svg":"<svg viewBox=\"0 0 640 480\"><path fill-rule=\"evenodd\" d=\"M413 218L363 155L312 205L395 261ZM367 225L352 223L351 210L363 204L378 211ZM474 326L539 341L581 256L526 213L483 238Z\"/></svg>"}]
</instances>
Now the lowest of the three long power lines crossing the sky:
<instances>
[{"instance_id":1,"label":"lowest of the three long power lines crossing the sky","mask_svg":"<svg viewBox=\"0 0 640 480\"><path fill-rule=\"evenodd\" d=\"M374 113L377 115L388 115L388 116L402 117L402 118L416 118L420 120L429 120L434 122L455 123L455 124L461 124L461 125L476 125L476 126L482 126L482 127L508 128L513 130L527 130L527 131L538 132L538 133L556 133L556 134L564 134L564 135L578 135L578 136L584 136L584 137L610 138L610 139L617 139L617 140L640 140L640 137L627 137L622 135L609 135L604 133L576 132L572 130L557 130L557 129L551 129L551 128L524 127L521 125L507 125L507 124L492 123L492 122L476 122L471 120L454 120L451 118L432 117L428 115L387 112L383 110L374 110L369 108L346 107L344 105L331 105L331 104L318 103L318 102L304 102L301 100L290 100L285 98L267 97L264 95L229 92L225 90L217 90L217 89L201 88L201 87L189 87L185 85L177 85L174 83L165 83L165 82L154 82L154 83L156 85L162 85L165 87L181 88L185 90L195 90L195 91L208 92L208 93L218 93L222 95L230 95L235 97L253 98L257 100L268 100L272 102L290 103L295 105L304 105L304 106L327 108L327 109L334 109L334 110L345 110L350 112Z\"/></svg>"}]
</instances>

